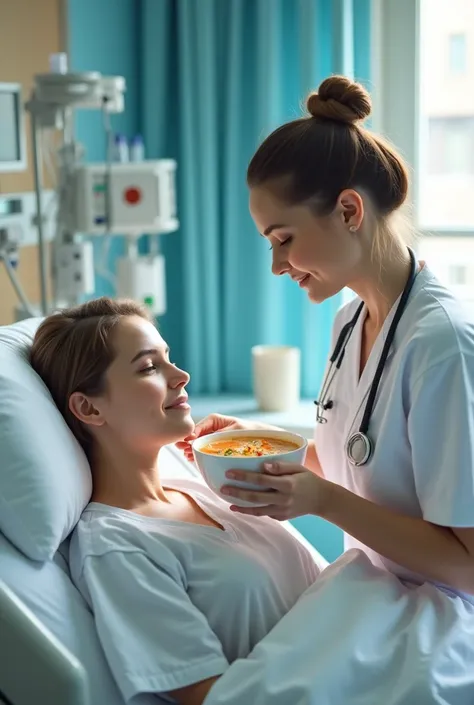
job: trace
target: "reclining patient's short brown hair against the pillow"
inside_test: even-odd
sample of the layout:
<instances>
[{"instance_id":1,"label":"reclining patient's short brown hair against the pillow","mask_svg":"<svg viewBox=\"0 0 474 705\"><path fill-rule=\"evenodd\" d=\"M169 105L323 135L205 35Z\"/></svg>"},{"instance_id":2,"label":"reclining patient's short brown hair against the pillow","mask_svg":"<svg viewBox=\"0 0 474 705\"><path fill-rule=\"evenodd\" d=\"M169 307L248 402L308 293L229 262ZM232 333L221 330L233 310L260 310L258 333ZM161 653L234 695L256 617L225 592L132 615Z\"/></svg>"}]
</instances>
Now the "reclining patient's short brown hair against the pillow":
<instances>
[{"instance_id":1,"label":"reclining patient's short brown hair against the pillow","mask_svg":"<svg viewBox=\"0 0 474 705\"><path fill-rule=\"evenodd\" d=\"M123 316L150 320L146 309L135 301L103 296L45 318L31 347L33 369L89 459L92 437L70 411L69 398L73 392L94 396L105 391L105 373L115 357L112 334Z\"/></svg>"}]
</instances>

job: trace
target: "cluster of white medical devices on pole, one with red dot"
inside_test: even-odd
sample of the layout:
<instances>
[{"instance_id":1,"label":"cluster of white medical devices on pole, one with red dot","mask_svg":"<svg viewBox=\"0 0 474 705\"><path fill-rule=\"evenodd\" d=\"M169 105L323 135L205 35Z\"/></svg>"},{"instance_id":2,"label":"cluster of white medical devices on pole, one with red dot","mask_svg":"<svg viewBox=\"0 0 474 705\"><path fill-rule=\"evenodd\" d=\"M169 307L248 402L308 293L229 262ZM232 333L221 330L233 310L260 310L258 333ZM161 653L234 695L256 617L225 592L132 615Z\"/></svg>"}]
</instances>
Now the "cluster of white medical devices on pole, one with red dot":
<instances>
[{"instance_id":1,"label":"cluster of white medical devices on pole, one with red dot","mask_svg":"<svg viewBox=\"0 0 474 705\"><path fill-rule=\"evenodd\" d=\"M15 90L19 95L19 86ZM114 294L145 303L155 315L165 312L165 267L157 236L179 227L176 162L141 159L144 146L138 143L135 146L141 148L133 151L138 161L114 161L111 115L124 110L125 90L122 76L69 72L65 54L53 54L50 72L34 78L25 104L30 114L34 203L30 198L27 208L23 197L0 197L0 265L19 299L17 319L38 312L47 315L79 303L94 294L96 274L112 286ZM0 128L1 109L0 93ZM77 109L102 112L107 145L103 163L84 162L85 150L74 138ZM4 115L13 124L12 111ZM60 139L53 139L51 131L59 131ZM0 141L0 160L1 147ZM46 199L43 167L49 167L55 185L53 198L48 195ZM36 238L31 237L33 227ZM88 243L90 235L101 237L98 248ZM116 260L115 271L110 271L108 255L114 235L125 236L126 257ZM142 235L149 236L145 255L137 247ZM47 248L49 240L52 247ZM19 247L27 243L39 248L39 307L28 301L17 274ZM49 271L52 296L47 285Z\"/></svg>"}]
</instances>

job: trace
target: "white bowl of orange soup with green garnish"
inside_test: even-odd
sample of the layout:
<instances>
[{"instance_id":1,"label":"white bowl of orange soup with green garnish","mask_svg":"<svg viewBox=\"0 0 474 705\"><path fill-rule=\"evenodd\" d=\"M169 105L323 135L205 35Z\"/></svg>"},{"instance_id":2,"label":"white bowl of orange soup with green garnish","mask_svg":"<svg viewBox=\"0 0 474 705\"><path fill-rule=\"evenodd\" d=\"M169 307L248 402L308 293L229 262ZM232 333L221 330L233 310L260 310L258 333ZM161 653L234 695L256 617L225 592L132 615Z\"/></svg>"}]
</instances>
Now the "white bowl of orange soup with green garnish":
<instances>
[{"instance_id":1,"label":"white bowl of orange soup with green garnish","mask_svg":"<svg viewBox=\"0 0 474 705\"><path fill-rule=\"evenodd\" d=\"M265 462L281 461L302 465L307 446L308 441L303 436L287 431L220 431L197 438L193 442L193 453L196 465L213 492L230 504L256 507L262 505L221 493L223 485L262 491L259 485L227 479L226 472L262 472Z\"/></svg>"}]
</instances>

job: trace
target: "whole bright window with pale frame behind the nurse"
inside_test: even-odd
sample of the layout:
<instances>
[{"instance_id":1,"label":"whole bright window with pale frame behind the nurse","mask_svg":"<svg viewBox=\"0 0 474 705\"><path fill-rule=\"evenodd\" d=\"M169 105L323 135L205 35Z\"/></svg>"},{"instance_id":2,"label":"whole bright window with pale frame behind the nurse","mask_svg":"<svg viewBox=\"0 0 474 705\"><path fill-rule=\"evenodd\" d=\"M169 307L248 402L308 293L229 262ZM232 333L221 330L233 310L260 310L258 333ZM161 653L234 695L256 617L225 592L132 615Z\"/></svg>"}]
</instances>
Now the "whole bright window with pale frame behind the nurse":
<instances>
[{"instance_id":1,"label":"whole bright window with pale frame behind the nurse","mask_svg":"<svg viewBox=\"0 0 474 705\"><path fill-rule=\"evenodd\" d=\"M474 0L373 0L374 127L413 167L419 256L474 311Z\"/></svg>"}]
</instances>

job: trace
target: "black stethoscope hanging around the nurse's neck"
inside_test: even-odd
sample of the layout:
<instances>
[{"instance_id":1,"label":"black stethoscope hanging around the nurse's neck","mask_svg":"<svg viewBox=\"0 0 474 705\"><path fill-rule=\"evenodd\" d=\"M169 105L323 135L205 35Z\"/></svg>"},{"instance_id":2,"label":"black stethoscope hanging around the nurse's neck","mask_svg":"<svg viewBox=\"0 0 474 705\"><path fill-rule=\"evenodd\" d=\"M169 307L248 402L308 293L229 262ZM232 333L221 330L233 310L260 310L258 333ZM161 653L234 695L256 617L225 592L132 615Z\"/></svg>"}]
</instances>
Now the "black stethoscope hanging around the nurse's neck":
<instances>
[{"instance_id":1,"label":"black stethoscope hanging around the nurse's neck","mask_svg":"<svg viewBox=\"0 0 474 705\"><path fill-rule=\"evenodd\" d=\"M382 378L385 363L387 362L387 357L390 352L393 340L395 338L395 332L397 330L398 323L402 317L403 311L408 301L410 291L416 279L417 274L417 262L414 252L408 248L410 253L411 269L408 281L405 284L400 301L395 311L392 323L387 333L387 338L380 355L380 360L375 370L374 379L370 386L369 396L367 398L367 403L364 410L364 415L359 426L359 430L351 434L346 442L346 456L348 461L352 465L360 466L365 465L370 456L372 455L374 444L367 435L369 429L370 417L375 404L375 397L377 395L377 389ZM334 378L337 371L341 367L342 361L344 359L344 353L346 351L347 344L350 337L354 331L355 325L359 319L362 309L364 308L364 302L362 301L357 307L357 311L351 320L343 326L339 337L334 346L334 351L329 358L328 370L324 376L323 383L321 385L321 390L319 393L319 399L315 401L317 407L316 421L318 423L327 423L327 418L325 417L325 412L332 409L334 402L329 398L331 388L333 386Z\"/></svg>"}]
</instances>

